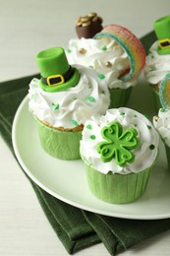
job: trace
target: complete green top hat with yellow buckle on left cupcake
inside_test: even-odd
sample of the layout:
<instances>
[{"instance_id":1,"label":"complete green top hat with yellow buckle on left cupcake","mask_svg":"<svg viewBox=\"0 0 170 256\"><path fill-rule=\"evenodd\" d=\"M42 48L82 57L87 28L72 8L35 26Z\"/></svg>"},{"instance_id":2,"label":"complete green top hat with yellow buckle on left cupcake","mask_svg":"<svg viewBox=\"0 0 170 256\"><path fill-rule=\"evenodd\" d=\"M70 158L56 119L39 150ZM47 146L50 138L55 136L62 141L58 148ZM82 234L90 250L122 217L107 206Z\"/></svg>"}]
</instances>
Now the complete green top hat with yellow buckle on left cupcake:
<instances>
[{"instance_id":1,"label":"complete green top hat with yellow buckle on left cupcake","mask_svg":"<svg viewBox=\"0 0 170 256\"><path fill-rule=\"evenodd\" d=\"M40 87L48 93L65 91L75 87L80 79L78 69L69 65L62 47L52 47L36 55L40 70Z\"/></svg>"}]
</instances>

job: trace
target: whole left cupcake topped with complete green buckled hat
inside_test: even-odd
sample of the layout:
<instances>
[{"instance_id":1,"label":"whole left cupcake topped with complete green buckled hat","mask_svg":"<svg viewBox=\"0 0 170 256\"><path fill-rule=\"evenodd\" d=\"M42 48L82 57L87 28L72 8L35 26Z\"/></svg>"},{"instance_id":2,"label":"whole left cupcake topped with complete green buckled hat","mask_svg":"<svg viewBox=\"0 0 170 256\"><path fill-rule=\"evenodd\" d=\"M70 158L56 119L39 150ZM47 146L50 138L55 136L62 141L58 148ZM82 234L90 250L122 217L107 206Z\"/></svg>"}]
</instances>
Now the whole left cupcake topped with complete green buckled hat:
<instances>
[{"instance_id":1,"label":"whole left cupcake topped with complete green buckled hat","mask_svg":"<svg viewBox=\"0 0 170 256\"><path fill-rule=\"evenodd\" d=\"M69 65L61 47L40 51L36 61L41 78L29 84L28 109L41 146L57 159L80 159L85 120L105 113L110 103L107 87L94 70Z\"/></svg>"}]
</instances>

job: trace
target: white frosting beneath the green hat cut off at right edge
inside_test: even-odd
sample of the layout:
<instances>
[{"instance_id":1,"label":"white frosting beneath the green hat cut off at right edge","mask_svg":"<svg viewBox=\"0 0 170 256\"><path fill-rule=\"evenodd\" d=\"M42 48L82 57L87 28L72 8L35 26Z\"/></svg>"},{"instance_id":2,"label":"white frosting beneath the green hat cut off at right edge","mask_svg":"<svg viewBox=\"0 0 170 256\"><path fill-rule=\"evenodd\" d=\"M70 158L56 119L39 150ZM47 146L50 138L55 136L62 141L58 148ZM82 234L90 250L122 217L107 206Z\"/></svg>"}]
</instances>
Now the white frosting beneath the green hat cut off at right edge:
<instances>
[{"instance_id":1,"label":"white frosting beneath the green hat cut off at right edge","mask_svg":"<svg viewBox=\"0 0 170 256\"><path fill-rule=\"evenodd\" d=\"M157 53L157 41L152 44L146 56L144 75L151 85L159 84L170 72L170 54Z\"/></svg>"}]
</instances>

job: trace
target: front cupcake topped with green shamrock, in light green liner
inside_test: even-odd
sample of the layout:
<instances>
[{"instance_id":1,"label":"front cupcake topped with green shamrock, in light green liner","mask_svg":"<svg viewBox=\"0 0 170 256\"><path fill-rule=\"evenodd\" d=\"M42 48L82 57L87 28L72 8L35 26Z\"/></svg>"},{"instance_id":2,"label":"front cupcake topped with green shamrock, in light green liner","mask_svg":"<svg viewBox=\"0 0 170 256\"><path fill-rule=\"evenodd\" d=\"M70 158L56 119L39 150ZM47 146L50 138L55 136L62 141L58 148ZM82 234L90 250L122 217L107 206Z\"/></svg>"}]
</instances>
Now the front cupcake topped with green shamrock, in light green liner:
<instances>
[{"instance_id":1,"label":"front cupcake topped with green shamrock, in light green liner","mask_svg":"<svg viewBox=\"0 0 170 256\"><path fill-rule=\"evenodd\" d=\"M98 199L126 204L145 191L158 155L159 136L136 110L120 107L85 122L81 156L87 183Z\"/></svg>"}]
</instances>

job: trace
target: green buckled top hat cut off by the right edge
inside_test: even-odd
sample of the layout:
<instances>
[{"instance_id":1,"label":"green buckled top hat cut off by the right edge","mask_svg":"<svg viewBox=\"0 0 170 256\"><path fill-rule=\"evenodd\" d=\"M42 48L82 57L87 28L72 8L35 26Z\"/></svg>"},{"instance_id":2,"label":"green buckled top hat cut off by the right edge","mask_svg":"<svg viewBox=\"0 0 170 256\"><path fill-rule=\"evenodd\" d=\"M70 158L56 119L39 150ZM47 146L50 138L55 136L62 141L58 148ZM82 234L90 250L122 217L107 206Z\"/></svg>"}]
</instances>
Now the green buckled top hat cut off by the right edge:
<instances>
[{"instance_id":1,"label":"green buckled top hat cut off by the right edge","mask_svg":"<svg viewBox=\"0 0 170 256\"><path fill-rule=\"evenodd\" d=\"M170 54L170 16L155 21L154 32L158 39L157 52L162 55Z\"/></svg>"}]
</instances>

